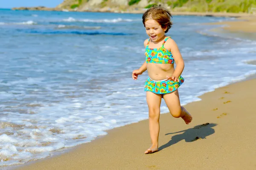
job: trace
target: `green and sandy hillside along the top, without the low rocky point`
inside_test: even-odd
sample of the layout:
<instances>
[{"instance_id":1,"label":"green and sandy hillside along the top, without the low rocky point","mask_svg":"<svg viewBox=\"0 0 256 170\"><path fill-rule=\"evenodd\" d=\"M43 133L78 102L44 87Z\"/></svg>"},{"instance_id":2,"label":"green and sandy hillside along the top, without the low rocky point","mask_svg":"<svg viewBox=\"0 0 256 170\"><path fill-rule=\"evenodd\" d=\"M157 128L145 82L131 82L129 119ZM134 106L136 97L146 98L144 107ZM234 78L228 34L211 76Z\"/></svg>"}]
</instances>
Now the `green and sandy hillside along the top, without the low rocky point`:
<instances>
[{"instance_id":1,"label":"green and sandy hillside along the top, without the low rocky point","mask_svg":"<svg viewBox=\"0 0 256 170\"><path fill-rule=\"evenodd\" d=\"M55 9L134 12L154 4L162 4L172 12L256 13L256 0L64 0Z\"/></svg>"}]
</instances>

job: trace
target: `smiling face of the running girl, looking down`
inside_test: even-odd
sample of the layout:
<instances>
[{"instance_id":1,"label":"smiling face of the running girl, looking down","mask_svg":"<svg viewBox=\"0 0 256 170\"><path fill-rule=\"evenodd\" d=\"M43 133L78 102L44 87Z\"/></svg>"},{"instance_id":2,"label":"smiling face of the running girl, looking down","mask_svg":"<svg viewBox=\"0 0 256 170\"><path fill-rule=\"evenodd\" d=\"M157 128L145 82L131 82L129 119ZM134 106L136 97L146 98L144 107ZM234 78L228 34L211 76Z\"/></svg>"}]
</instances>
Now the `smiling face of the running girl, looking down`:
<instances>
[{"instance_id":1,"label":"smiling face of the running girl, looking down","mask_svg":"<svg viewBox=\"0 0 256 170\"><path fill-rule=\"evenodd\" d=\"M145 22L145 29L151 40L157 42L164 36L167 28L163 29L156 20L149 19Z\"/></svg>"}]
</instances>

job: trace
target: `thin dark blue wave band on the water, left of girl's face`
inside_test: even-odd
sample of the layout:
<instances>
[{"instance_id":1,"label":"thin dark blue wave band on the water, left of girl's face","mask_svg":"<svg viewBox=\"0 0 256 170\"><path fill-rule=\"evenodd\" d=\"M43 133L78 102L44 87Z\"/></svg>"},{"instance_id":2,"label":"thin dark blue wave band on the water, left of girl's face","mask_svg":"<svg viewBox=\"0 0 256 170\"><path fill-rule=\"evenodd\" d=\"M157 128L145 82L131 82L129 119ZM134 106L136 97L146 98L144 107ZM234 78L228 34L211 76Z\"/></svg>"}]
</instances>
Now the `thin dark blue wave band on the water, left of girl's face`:
<instances>
[{"instance_id":1,"label":"thin dark blue wave band on the water, left of girl's face","mask_svg":"<svg viewBox=\"0 0 256 170\"><path fill-rule=\"evenodd\" d=\"M82 32L82 31L39 31L39 30L26 30L27 33L33 34L75 34L75 35L132 35L122 32Z\"/></svg>"}]
</instances>

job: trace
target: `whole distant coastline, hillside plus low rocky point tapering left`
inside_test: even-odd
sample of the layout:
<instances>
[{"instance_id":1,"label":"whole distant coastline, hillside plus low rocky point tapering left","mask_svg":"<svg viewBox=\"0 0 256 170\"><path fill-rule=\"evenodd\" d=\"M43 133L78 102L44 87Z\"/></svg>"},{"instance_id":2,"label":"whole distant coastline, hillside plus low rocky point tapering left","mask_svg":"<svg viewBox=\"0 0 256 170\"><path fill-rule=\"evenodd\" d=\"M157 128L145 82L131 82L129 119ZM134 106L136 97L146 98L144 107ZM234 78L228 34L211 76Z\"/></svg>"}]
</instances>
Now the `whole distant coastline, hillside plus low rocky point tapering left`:
<instances>
[{"instance_id":1,"label":"whole distant coastline, hillside plus low rocky point tapering left","mask_svg":"<svg viewBox=\"0 0 256 170\"><path fill-rule=\"evenodd\" d=\"M153 5L161 4L174 15L242 17L256 15L256 2L248 0L63 0L55 8L45 6L18 7L13 10L64 12L112 12L141 14Z\"/></svg>"}]
</instances>

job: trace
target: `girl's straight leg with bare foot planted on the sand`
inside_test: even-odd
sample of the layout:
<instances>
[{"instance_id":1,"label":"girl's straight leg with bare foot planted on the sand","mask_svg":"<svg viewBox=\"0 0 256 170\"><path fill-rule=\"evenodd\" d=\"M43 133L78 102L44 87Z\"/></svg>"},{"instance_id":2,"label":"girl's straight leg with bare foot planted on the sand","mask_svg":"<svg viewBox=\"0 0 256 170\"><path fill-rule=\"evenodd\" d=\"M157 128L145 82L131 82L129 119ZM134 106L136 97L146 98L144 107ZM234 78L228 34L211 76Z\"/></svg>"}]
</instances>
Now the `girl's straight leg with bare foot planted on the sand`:
<instances>
[{"instance_id":1,"label":"girl's straight leg with bare foot planted on the sand","mask_svg":"<svg viewBox=\"0 0 256 170\"><path fill-rule=\"evenodd\" d=\"M152 146L145 153L153 153L158 150L159 116L162 96L152 92L146 92L148 103L149 132Z\"/></svg>"}]
</instances>

